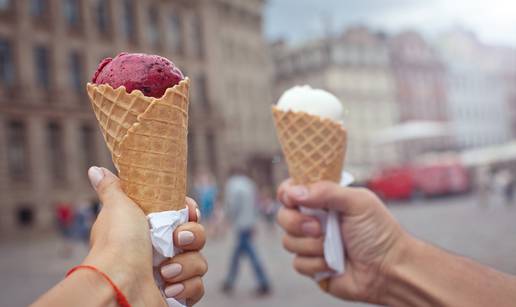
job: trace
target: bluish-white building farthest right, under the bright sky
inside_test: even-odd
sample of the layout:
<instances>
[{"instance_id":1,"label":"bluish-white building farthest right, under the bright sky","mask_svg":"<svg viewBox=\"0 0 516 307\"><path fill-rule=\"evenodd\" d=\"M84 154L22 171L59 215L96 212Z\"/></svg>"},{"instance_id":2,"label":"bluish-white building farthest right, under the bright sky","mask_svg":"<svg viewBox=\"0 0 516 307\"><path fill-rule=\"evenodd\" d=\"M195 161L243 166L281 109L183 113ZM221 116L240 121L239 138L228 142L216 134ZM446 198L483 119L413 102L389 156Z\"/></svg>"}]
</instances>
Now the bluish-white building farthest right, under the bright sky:
<instances>
[{"instance_id":1,"label":"bluish-white building farthest right, under the bright sky","mask_svg":"<svg viewBox=\"0 0 516 307\"><path fill-rule=\"evenodd\" d=\"M497 49L463 29L442 34L435 45L447 67L448 114L458 149L509 141L508 91L514 85L504 77L507 63Z\"/></svg>"}]
</instances>

